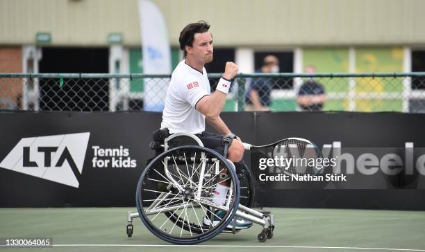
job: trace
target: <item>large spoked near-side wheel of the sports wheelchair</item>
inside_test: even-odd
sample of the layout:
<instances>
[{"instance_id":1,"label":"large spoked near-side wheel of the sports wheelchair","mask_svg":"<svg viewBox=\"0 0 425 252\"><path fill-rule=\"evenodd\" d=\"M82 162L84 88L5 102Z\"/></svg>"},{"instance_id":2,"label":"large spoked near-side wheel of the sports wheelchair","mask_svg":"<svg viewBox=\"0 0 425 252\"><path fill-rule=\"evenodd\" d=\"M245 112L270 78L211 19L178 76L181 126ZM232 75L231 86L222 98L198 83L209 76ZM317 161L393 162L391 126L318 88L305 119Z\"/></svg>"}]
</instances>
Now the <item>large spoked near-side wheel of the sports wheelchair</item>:
<instances>
[{"instance_id":1,"label":"large spoked near-side wheel of the sports wheelchair","mask_svg":"<svg viewBox=\"0 0 425 252\"><path fill-rule=\"evenodd\" d=\"M213 201L217 186L228 188L220 202ZM221 233L239 200L238 177L228 161L194 145L176 147L153 159L136 192L144 225L174 244L197 244Z\"/></svg>"}]
</instances>

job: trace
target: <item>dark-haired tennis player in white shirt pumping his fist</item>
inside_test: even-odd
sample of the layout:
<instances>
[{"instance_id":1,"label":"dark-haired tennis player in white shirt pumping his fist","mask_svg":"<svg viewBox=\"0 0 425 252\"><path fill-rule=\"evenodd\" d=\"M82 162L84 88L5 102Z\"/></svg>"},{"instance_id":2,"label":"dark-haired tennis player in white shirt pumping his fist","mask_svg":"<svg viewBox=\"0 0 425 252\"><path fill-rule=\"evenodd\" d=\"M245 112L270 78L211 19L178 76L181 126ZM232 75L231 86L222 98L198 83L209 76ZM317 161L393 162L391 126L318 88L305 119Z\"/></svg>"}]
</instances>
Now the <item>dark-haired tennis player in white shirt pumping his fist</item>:
<instances>
[{"instance_id":1,"label":"dark-haired tennis player in white shirt pumping his fist","mask_svg":"<svg viewBox=\"0 0 425 252\"><path fill-rule=\"evenodd\" d=\"M215 150L232 161L236 167L244 165L242 157L244 146L238 136L235 136L220 118L226 102L226 95L231 87L231 80L238 73L238 66L233 62L226 62L224 74L219 80L215 92L211 93L210 82L205 64L213 61L213 38L208 31L210 26L205 21L188 24L180 33L180 48L185 60L181 61L172 73L167 89L165 108L161 129L154 132L154 142L151 146L160 154L158 143L170 134L195 134L205 147ZM205 131L208 123L220 134ZM224 138L229 141L228 150L224 150ZM230 139L230 140L229 140ZM224 197L228 192L228 182L218 183L212 201L224 204ZM215 215L220 216L220 210ZM210 220L203 218L203 223L209 225ZM235 222L235 223L234 223ZM235 217L229 227L237 229L249 228L252 222Z\"/></svg>"}]
</instances>

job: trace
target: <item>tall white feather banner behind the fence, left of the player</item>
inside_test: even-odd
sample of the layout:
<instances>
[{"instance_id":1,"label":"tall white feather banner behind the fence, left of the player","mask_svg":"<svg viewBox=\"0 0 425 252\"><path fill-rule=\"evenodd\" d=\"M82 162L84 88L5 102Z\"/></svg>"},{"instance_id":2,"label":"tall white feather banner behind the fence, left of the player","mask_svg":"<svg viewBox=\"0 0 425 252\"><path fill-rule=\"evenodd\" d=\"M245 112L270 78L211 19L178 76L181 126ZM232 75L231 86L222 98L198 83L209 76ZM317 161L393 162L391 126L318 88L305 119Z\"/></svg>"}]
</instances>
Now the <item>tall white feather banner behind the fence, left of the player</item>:
<instances>
[{"instance_id":1,"label":"tall white feather banner behind the fence, left of the player","mask_svg":"<svg viewBox=\"0 0 425 252\"><path fill-rule=\"evenodd\" d=\"M171 55L167 25L155 3L139 1L139 17L142 35L143 73L171 73ZM163 111L169 79L144 80L144 110Z\"/></svg>"}]
</instances>

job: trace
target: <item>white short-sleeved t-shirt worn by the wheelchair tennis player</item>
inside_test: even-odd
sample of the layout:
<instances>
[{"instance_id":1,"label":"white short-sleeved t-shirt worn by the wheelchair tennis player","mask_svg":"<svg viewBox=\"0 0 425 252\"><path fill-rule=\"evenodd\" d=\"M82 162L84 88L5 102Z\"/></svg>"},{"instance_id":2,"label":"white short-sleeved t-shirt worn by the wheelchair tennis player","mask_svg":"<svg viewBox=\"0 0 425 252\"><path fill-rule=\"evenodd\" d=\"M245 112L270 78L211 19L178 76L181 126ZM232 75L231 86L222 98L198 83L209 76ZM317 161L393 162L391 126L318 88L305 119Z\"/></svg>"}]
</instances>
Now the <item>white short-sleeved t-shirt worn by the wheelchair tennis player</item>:
<instances>
[{"instance_id":1,"label":"white short-sleeved t-shirt worn by the wheelchair tennis player","mask_svg":"<svg viewBox=\"0 0 425 252\"><path fill-rule=\"evenodd\" d=\"M202 72L186 64L185 60L174 69L161 123L161 127L167 127L169 133L198 134L205 131L205 116L195 109L197 102L211 93L205 67Z\"/></svg>"}]
</instances>

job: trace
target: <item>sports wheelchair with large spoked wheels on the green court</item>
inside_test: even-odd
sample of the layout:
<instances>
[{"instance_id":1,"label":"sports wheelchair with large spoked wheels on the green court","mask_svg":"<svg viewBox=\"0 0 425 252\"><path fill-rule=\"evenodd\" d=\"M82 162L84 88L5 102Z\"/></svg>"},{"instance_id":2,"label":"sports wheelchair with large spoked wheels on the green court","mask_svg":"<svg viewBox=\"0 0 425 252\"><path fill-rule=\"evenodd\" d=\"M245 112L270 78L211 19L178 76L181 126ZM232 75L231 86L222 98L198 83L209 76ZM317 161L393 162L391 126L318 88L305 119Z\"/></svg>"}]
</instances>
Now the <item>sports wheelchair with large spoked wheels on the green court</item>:
<instances>
[{"instance_id":1,"label":"sports wheelchair with large spoked wheels on the green court","mask_svg":"<svg viewBox=\"0 0 425 252\"><path fill-rule=\"evenodd\" d=\"M197 244L219 233L238 233L237 219L248 219L263 227L258 240L273 237L274 215L260 213L253 204L251 172L225 159L231 138L223 138L224 156L203 147L194 134L169 135L154 132L156 157L150 159L140 176L136 191L138 213L127 213L126 234L133 235L133 219L157 237L174 244ZM217 186L228 188L222 204L214 202ZM231 224L233 223L233 224Z\"/></svg>"}]
</instances>

